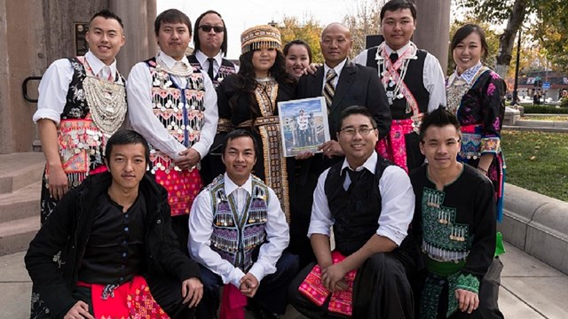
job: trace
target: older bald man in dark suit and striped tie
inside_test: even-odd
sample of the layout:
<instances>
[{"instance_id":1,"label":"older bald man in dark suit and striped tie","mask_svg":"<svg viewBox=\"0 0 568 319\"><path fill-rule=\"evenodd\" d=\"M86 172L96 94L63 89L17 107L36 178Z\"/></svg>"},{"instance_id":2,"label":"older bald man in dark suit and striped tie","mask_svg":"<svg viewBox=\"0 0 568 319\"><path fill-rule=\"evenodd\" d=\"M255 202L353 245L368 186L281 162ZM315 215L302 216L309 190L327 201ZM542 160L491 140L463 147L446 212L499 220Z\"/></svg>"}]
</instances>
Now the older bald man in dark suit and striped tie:
<instances>
[{"instance_id":1,"label":"older bald man in dark suit and striped tie","mask_svg":"<svg viewBox=\"0 0 568 319\"><path fill-rule=\"evenodd\" d=\"M329 131L339 128L342 111L351 105L365 106L376 122L379 136L390 130L390 110L387 97L375 70L351 62L347 56L352 47L351 31L341 23L331 23L321 32L319 45L325 59L314 74L298 81L297 98L325 97ZM306 153L297 159L300 167L296 197L292 198L290 248L300 256L300 265L314 261L305 235L312 211L312 193L318 176L328 167L343 160L342 148L335 136L319 145L322 154Z\"/></svg>"}]
</instances>

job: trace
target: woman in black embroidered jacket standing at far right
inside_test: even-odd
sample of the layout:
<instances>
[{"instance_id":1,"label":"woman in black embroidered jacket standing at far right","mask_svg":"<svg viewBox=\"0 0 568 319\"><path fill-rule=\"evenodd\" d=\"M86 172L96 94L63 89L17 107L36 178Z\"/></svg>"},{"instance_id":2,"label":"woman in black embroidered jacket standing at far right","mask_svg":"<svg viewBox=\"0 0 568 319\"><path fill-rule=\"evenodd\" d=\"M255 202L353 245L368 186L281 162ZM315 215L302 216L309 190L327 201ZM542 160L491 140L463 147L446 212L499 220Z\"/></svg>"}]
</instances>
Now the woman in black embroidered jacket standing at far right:
<instances>
[{"instance_id":1,"label":"woman in black embroidered jacket standing at far right","mask_svg":"<svg viewBox=\"0 0 568 319\"><path fill-rule=\"evenodd\" d=\"M493 182L496 218L501 222L505 183L505 161L501 152L505 82L482 63L487 58L488 46L483 29L477 25L460 27L452 38L451 48L456 67L446 82L446 97L447 109L456 114L461 125L458 160L477 167ZM501 234L498 232L495 255L503 252ZM497 306L502 267L499 258L495 257L488 271L493 277L486 276L481 285L482 291L493 291L482 292L486 296L493 296L490 300L480 300L479 310L484 318L502 318Z\"/></svg>"}]
</instances>

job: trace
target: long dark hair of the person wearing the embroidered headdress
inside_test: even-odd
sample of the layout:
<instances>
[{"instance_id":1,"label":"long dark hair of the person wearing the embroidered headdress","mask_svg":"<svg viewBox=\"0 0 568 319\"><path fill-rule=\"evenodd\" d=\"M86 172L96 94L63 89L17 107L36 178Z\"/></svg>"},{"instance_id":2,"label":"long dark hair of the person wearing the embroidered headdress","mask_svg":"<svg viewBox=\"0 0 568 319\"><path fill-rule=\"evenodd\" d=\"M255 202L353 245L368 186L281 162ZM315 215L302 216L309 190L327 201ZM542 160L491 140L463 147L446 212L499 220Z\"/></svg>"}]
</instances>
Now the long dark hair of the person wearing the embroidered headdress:
<instances>
[{"instance_id":1,"label":"long dark hair of the person wearing the embroidered headdress","mask_svg":"<svg viewBox=\"0 0 568 319\"><path fill-rule=\"evenodd\" d=\"M255 89L256 85L256 72L255 67L252 65L252 55L255 51L248 51L247 53L241 54L239 57L239 73L236 76L236 93L229 100L229 105L231 106L231 111L234 113L237 105L237 101L241 97L248 98L250 113L252 114L253 122L260 115L257 112L258 103L256 102ZM286 72L284 55L280 50L276 51L276 59L274 60L274 65L270 68L269 74L272 76L279 85L288 84L293 85L295 79L292 75ZM274 105L275 106L275 105Z\"/></svg>"}]
</instances>

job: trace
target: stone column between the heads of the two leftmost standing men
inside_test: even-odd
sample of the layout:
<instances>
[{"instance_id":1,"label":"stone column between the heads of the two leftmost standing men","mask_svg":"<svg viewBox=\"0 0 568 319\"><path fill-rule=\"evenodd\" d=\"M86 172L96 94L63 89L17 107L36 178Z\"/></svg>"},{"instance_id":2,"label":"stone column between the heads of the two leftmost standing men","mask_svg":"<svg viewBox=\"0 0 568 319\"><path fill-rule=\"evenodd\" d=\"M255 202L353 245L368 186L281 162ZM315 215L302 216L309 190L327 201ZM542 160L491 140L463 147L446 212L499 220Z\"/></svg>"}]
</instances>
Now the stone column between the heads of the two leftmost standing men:
<instances>
[{"instance_id":1,"label":"stone column between the heads of the two leftmost standing men","mask_svg":"<svg viewBox=\"0 0 568 319\"><path fill-rule=\"evenodd\" d=\"M148 36L148 30L154 26L156 3L155 0L109 0L109 6L124 23L126 43L116 60L118 70L128 77L132 66L154 56L156 52L154 31L152 37ZM154 46L151 43L154 43Z\"/></svg>"}]
</instances>

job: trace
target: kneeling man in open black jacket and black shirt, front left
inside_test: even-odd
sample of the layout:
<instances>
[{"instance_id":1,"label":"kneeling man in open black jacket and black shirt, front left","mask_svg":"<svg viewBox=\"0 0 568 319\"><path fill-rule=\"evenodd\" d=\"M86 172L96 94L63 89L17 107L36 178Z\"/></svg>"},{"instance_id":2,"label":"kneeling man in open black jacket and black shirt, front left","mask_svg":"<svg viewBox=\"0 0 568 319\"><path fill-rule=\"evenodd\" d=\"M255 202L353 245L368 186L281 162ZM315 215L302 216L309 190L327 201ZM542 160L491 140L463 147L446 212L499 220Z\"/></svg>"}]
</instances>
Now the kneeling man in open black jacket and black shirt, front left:
<instances>
[{"instance_id":1,"label":"kneeling man in open black jacket and black shirt, front left","mask_svg":"<svg viewBox=\"0 0 568 319\"><path fill-rule=\"evenodd\" d=\"M144 137L121 130L106 144L108 172L59 201L26 254L34 291L52 318L193 318L198 266L171 230L168 193L146 173Z\"/></svg>"}]
</instances>

